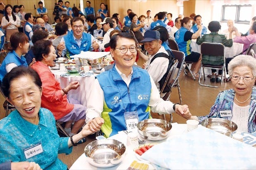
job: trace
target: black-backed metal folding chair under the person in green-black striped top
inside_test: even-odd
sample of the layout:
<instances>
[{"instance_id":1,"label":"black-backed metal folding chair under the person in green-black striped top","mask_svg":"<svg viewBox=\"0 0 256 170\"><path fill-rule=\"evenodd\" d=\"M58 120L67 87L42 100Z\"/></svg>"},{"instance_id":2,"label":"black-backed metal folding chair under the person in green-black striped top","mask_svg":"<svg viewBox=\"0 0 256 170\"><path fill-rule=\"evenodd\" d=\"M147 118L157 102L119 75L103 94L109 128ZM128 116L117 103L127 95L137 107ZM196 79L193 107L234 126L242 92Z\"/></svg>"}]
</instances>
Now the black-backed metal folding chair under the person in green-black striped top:
<instances>
[{"instance_id":1,"label":"black-backed metal folding chair under the person in green-black striped top","mask_svg":"<svg viewBox=\"0 0 256 170\"><path fill-rule=\"evenodd\" d=\"M203 42L201 44L201 56L202 56L202 60L201 60L201 67L199 70L199 79L198 79L199 84L202 86L208 86L208 87L215 87L215 88L219 87L219 86L212 86L209 84L202 84L200 81L201 70L203 69L203 73L204 73L204 68L210 68L210 69L222 70L221 83L220 83L220 86L221 86L222 82L223 82L223 74L225 75L224 77L226 79L225 47L224 47L224 45L221 43ZM214 65L214 62L216 61L216 59L215 59L216 56L223 57L223 63L221 65ZM203 63L205 57L209 58L211 60L211 62L213 62L213 63ZM204 74L204 80L205 80L205 74Z\"/></svg>"}]
</instances>

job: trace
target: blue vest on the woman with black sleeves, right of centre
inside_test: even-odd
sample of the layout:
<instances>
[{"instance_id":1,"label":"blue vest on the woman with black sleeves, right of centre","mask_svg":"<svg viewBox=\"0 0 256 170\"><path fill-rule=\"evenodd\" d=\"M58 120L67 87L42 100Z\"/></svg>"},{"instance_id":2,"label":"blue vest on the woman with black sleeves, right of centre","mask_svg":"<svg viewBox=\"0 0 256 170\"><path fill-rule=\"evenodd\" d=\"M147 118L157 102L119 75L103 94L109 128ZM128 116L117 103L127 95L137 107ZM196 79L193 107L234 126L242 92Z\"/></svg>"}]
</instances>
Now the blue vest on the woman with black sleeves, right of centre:
<instances>
[{"instance_id":1,"label":"blue vest on the woman with black sleeves, right of centre","mask_svg":"<svg viewBox=\"0 0 256 170\"><path fill-rule=\"evenodd\" d=\"M185 56L188 56L191 54L191 40L184 41L184 35L188 30L184 27L181 27L176 33L175 33L175 41L178 44L178 47L180 51L185 53Z\"/></svg>"}]
</instances>

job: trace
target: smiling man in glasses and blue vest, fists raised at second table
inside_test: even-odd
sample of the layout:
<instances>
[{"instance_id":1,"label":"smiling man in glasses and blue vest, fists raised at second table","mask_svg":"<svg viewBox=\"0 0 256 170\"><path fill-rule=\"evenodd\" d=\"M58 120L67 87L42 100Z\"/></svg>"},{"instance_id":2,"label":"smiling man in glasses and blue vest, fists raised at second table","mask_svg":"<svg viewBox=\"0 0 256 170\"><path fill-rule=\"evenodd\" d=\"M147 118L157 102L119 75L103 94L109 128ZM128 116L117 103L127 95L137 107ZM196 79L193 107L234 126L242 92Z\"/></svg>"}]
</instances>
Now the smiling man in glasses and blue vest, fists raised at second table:
<instances>
[{"instance_id":1,"label":"smiling man in glasses and blue vest, fists raised at second table","mask_svg":"<svg viewBox=\"0 0 256 170\"><path fill-rule=\"evenodd\" d=\"M80 17L71 20L72 31L65 35L57 46L58 56L64 56L68 51L70 56L81 51L97 51L99 44L91 34L83 32L84 21Z\"/></svg>"}]
</instances>

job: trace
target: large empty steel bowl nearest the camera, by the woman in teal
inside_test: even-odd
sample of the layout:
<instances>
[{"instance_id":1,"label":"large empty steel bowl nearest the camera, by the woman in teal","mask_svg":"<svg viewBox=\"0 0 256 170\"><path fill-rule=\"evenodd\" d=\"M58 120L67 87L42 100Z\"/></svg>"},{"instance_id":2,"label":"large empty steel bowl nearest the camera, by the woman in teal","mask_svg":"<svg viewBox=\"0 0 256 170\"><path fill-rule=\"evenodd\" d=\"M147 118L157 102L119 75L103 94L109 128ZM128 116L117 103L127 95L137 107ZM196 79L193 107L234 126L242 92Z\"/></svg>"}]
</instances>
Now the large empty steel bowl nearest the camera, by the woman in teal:
<instances>
[{"instance_id":1,"label":"large empty steel bowl nearest the camera, by the woman in teal","mask_svg":"<svg viewBox=\"0 0 256 170\"><path fill-rule=\"evenodd\" d=\"M98 168L109 168L123 161L126 146L114 139L95 140L85 147L87 161Z\"/></svg>"}]
</instances>

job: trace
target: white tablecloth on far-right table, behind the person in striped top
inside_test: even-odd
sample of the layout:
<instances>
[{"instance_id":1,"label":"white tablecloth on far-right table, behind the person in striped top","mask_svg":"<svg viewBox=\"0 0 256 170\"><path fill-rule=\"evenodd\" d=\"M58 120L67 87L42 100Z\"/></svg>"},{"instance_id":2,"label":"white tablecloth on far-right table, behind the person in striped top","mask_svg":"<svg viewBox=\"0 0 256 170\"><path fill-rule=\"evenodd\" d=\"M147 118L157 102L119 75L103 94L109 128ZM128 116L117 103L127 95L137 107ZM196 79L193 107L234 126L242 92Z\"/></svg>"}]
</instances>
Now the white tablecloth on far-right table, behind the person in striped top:
<instances>
[{"instance_id":1,"label":"white tablecloth on far-right table, behind the person in striped top","mask_svg":"<svg viewBox=\"0 0 256 170\"><path fill-rule=\"evenodd\" d=\"M194 52L200 53L200 45L197 44L197 40L191 40L191 49ZM232 47L225 47L225 57L231 58L237 56L238 54L242 53L244 44L240 44L237 42L233 42Z\"/></svg>"}]
</instances>

